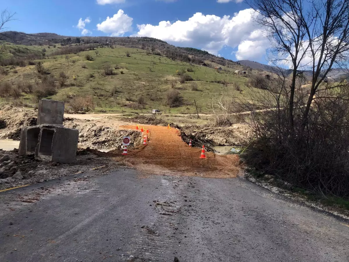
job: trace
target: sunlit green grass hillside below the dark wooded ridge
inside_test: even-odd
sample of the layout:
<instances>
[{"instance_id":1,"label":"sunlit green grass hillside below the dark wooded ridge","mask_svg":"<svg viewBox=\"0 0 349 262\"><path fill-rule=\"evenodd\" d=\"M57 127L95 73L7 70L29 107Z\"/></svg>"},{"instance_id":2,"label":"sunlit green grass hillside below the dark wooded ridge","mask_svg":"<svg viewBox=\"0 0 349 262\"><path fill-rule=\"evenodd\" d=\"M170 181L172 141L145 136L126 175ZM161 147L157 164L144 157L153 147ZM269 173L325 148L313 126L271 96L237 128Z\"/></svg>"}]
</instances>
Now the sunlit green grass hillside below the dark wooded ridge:
<instances>
[{"instance_id":1,"label":"sunlit green grass hillside below the dark wooded ridge","mask_svg":"<svg viewBox=\"0 0 349 262\"><path fill-rule=\"evenodd\" d=\"M33 61L42 63L45 70L38 73L36 65L1 68L1 85L4 86L6 83L14 90L17 88L22 91L22 96L17 94L18 90L15 92L16 95L0 93L3 102L20 100L28 104L36 103L38 94L45 96L45 93L40 93L38 89L54 85L53 92L46 93L49 94L48 98L69 103L74 97L75 100L81 97L86 102L85 107L91 108L93 95L94 109L97 111L149 112L156 108L166 113L192 114L196 112L194 99L199 112L211 113L211 97L225 95L227 89L233 92L237 99L248 99L251 93L265 92L246 87L248 78L233 73L241 68L221 66L223 71L217 72L213 68L172 60L142 49L113 46L67 56L52 56L50 53L58 50L58 47L51 46L49 49L48 46L13 46L12 48L28 48L40 52L45 48L46 58ZM129 57L126 53L129 53ZM87 60L87 55L91 56L90 61ZM113 75L105 75L106 68L111 68ZM59 83L61 72L67 76L62 87ZM190 75L194 81L180 83L178 74L181 72ZM173 82L175 86L172 88ZM30 83L33 86L31 92L25 88ZM173 89L183 96L183 105L179 107L170 107L168 104L167 96Z\"/></svg>"}]
</instances>

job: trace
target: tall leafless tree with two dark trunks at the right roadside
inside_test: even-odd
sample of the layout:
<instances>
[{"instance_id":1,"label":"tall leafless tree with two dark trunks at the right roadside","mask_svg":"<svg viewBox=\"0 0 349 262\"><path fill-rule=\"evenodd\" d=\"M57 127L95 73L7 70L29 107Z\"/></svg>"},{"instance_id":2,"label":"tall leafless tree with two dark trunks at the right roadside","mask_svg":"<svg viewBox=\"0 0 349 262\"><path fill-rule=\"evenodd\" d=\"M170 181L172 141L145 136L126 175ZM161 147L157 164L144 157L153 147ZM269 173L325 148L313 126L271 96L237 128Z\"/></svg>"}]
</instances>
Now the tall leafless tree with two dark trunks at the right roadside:
<instances>
[{"instance_id":1,"label":"tall leafless tree with two dark trunks at the right roadside","mask_svg":"<svg viewBox=\"0 0 349 262\"><path fill-rule=\"evenodd\" d=\"M302 116L307 125L310 106L333 66L349 58L349 2L342 0L251 0L257 21L270 39L269 59L292 68L289 91L289 122L294 127L296 79L312 71L310 96ZM298 117L298 116L297 116Z\"/></svg>"}]
</instances>

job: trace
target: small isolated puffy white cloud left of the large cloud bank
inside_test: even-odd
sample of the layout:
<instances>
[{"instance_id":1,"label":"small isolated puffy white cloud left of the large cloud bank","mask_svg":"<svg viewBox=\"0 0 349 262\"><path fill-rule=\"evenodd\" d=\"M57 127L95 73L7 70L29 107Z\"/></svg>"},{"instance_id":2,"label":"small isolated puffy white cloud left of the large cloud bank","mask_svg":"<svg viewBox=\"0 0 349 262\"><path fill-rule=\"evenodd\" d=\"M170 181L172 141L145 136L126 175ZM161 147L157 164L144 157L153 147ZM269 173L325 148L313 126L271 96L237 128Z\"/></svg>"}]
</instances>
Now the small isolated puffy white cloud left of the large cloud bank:
<instances>
[{"instance_id":1,"label":"small isolated puffy white cloud left of the large cloud bank","mask_svg":"<svg viewBox=\"0 0 349 262\"><path fill-rule=\"evenodd\" d=\"M97 24L97 29L111 36L123 36L125 32L132 30L132 21L133 18L120 9L113 17L108 16L105 21Z\"/></svg>"}]
</instances>

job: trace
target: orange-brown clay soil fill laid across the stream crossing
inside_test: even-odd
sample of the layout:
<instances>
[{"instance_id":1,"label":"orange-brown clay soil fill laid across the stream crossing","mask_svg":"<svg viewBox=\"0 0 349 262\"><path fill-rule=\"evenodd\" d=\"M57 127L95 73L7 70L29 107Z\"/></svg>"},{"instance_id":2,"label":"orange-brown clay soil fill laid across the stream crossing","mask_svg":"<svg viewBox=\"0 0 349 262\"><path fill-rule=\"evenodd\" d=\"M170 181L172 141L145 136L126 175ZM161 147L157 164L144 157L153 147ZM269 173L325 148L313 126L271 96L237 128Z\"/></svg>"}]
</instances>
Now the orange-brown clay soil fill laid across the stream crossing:
<instances>
[{"instance_id":1,"label":"orange-brown clay soil fill laid across the stream crossing","mask_svg":"<svg viewBox=\"0 0 349 262\"><path fill-rule=\"evenodd\" d=\"M126 162L140 169L143 174L191 175L204 177L236 177L240 172L238 155L216 155L206 152L206 159L200 159L201 148L188 146L180 139L179 131L166 126L143 125L146 135L150 133L146 146L128 150ZM120 126L136 129L136 126ZM121 155L121 152L112 152Z\"/></svg>"}]
</instances>

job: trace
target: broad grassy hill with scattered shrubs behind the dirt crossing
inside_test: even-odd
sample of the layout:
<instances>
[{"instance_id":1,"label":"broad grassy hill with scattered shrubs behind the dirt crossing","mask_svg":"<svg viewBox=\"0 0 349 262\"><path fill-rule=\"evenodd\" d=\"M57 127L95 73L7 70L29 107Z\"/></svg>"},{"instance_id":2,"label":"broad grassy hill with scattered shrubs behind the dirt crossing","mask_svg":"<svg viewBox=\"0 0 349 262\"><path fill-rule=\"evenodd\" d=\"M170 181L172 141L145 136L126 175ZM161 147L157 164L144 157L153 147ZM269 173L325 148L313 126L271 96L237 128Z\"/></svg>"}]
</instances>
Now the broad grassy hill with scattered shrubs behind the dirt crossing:
<instances>
[{"instance_id":1,"label":"broad grassy hill with scattered shrubs behind the dirt crossing","mask_svg":"<svg viewBox=\"0 0 349 262\"><path fill-rule=\"evenodd\" d=\"M149 112L156 108L165 113L194 114L195 100L199 113L211 114L212 98L232 95L250 99L251 94L267 93L248 87L248 75L234 74L233 71L242 69L238 64L231 63L230 67L222 66L223 71L216 71L193 63L198 57L189 53L213 57L201 50L183 49L187 54L180 53L176 59L166 48L152 51L141 45L25 46L7 42L5 47L11 52L27 50L37 57L29 60L12 56L1 61L21 62L0 68L2 101L30 104L47 97L66 101L71 110L93 107L97 111ZM185 55L189 60L183 59ZM203 61L212 67L218 65Z\"/></svg>"}]
</instances>

